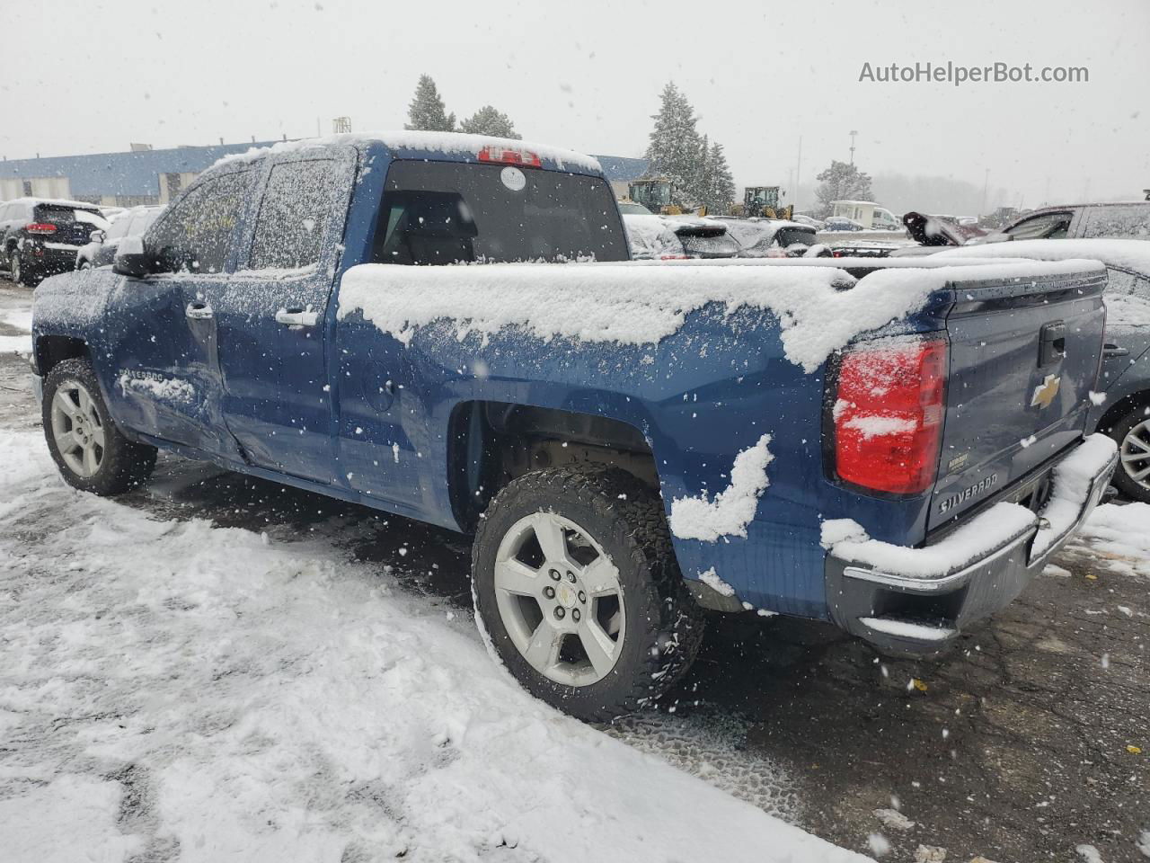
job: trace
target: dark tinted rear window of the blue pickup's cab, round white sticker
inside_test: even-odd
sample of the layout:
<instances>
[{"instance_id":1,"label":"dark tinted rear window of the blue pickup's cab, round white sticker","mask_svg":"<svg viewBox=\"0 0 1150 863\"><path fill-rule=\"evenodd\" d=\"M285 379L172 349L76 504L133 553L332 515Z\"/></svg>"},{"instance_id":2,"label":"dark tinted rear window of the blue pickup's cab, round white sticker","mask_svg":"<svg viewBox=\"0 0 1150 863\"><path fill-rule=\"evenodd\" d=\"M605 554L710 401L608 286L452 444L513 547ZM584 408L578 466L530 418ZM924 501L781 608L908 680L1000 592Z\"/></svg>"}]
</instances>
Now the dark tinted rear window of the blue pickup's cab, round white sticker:
<instances>
[{"instance_id":1,"label":"dark tinted rear window of the blue pickup's cab, round white sticker","mask_svg":"<svg viewBox=\"0 0 1150 863\"><path fill-rule=\"evenodd\" d=\"M371 249L407 265L627 258L601 178L474 162L393 162Z\"/></svg>"}]
</instances>

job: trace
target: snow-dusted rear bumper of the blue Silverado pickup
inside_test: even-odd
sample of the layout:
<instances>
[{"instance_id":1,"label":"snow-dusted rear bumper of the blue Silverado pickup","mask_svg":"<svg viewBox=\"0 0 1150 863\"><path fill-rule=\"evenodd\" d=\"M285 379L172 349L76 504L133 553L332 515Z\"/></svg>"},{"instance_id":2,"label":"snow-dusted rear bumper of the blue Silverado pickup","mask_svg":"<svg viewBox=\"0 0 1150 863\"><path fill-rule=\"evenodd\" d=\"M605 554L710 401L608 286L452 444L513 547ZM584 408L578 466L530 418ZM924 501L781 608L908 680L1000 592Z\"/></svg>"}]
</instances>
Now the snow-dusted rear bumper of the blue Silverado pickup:
<instances>
[{"instance_id":1,"label":"snow-dusted rear bumper of the blue Silverado pickup","mask_svg":"<svg viewBox=\"0 0 1150 863\"><path fill-rule=\"evenodd\" d=\"M833 619L887 652L941 652L965 626L989 617L1022 593L1097 506L1117 465L1112 442L1092 435L1050 468L1050 503L1029 524L1006 542L979 549L929 578L922 576L917 564L936 552L937 545L897 549L902 553L895 557L905 562L902 566L876 566L866 562L866 551L843 556L836 553L839 547L834 547L826 560ZM1000 534L1000 528L995 529L999 514L987 511L969 519L963 526L964 536Z\"/></svg>"}]
</instances>

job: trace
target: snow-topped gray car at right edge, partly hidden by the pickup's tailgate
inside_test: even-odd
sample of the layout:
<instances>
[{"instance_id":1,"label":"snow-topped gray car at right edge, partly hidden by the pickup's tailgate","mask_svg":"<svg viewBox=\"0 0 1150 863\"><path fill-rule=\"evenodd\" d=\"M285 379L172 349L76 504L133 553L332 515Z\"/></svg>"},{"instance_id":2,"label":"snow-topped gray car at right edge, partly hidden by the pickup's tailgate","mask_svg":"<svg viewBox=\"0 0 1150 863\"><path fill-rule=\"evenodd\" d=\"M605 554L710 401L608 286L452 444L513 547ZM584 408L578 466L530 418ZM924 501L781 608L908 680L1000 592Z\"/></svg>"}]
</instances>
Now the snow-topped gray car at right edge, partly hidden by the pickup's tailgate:
<instances>
[{"instance_id":1,"label":"snow-topped gray car at right edge, partly hidden by the pickup's tailgate","mask_svg":"<svg viewBox=\"0 0 1150 863\"><path fill-rule=\"evenodd\" d=\"M1020 239L944 250L937 257L1094 259L1106 265L1106 337L1089 428L1110 435L1119 445L1114 486L1130 499L1150 503L1150 244Z\"/></svg>"}]
</instances>

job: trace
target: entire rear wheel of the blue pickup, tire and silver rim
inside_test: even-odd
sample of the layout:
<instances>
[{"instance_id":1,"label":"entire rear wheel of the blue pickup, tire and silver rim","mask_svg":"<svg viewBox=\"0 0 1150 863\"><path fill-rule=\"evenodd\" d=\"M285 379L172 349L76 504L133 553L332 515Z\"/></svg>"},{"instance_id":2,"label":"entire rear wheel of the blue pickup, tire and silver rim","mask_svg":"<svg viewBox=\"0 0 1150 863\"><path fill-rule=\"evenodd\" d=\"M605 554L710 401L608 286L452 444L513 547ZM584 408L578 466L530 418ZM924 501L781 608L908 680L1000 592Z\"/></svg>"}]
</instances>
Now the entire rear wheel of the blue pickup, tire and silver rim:
<instances>
[{"instance_id":1,"label":"entire rear wheel of the blue pickup, tire and silver rim","mask_svg":"<svg viewBox=\"0 0 1150 863\"><path fill-rule=\"evenodd\" d=\"M618 468L508 483L481 521L471 572L498 658L580 719L610 721L658 698L703 639L659 498Z\"/></svg>"}]
</instances>

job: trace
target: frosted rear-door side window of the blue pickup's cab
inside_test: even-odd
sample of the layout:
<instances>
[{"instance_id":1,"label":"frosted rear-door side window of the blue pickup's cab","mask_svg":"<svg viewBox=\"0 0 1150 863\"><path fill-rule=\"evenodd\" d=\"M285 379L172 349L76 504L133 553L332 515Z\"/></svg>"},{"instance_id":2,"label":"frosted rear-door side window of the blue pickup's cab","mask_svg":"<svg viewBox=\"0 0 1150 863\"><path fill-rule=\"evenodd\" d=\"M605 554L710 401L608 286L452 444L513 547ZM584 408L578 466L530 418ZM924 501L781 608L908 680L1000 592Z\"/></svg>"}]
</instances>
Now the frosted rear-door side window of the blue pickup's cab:
<instances>
[{"instance_id":1,"label":"frosted rear-door side window of the blue pickup's cab","mask_svg":"<svg viewBox=\"0 0 1150 863\"><path fill-rule=\"evenodd\" d=\"M275 166L255 220L247 268L297 269L317 264L338 191L338 163L330 159Z\"/></svg>"}]
</instances>

